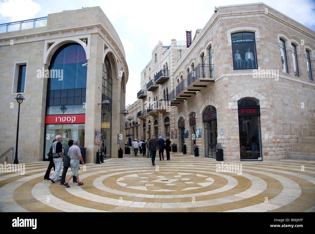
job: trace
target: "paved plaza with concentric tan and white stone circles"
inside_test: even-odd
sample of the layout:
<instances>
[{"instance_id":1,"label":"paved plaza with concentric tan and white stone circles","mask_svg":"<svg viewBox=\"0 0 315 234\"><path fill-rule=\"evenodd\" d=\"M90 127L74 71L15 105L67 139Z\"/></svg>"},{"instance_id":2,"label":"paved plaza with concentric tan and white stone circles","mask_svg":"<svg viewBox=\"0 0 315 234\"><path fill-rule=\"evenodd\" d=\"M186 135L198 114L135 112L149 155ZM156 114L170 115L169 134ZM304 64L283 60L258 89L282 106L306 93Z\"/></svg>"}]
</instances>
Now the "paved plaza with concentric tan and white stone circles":
<instances>
[{"instance_id":1,"label":"paved plaza with concentric tan and white stone circles","mask_svg":"<svg viewBox=\"0 0 315 234\"><path fill-rule=\"evenodd\" d=\"M0 172L0 211L315 211L314 161L224 161L221 165L211 158L171 153L170 161L166 156L160 161L157 154L155 162L152 166L151 159L139 153L80 165L84 185L71 180L66 188L43 180L49 162L20 161L25 163L24 175Z\"/></svg>"}]
</instances>

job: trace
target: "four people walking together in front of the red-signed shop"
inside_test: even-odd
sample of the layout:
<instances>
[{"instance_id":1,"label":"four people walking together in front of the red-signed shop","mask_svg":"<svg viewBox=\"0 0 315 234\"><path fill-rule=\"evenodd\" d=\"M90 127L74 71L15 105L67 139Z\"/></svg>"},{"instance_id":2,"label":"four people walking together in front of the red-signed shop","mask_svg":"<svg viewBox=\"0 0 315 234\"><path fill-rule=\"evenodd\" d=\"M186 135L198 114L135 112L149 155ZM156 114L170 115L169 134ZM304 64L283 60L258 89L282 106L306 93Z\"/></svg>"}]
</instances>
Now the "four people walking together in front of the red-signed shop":
<instances>
[{"instance_id":1,"label":"four people walking together in front of the red-signed shop","mask_svg":"<svg viewBox=\"0 0 315 234\"><path fill-rule=\"evenodd\" d=\"M73 183L77 183L78 186L83 185L83 182L79 180L79 169L80 169L80 160L82 165L84 165L83 158L81 155L79 145L79 140L69 140L68 146L64 149L64 155L62 155L62 144L61 136L56 136L53 144L51 145L48 153L49 166L44 176L44 180L50 180L52 183L55 183L54 180L60 181L60 184L69 188L68 182L72 179ZM63 171L60 178L60 171L62 166L63 159ZM54 167L54 174L49 177L51 168ZM71 175L66 180L67 170L71 167ZM65 181L66 180L66 181Z\"/></svg>"}]
</instances>

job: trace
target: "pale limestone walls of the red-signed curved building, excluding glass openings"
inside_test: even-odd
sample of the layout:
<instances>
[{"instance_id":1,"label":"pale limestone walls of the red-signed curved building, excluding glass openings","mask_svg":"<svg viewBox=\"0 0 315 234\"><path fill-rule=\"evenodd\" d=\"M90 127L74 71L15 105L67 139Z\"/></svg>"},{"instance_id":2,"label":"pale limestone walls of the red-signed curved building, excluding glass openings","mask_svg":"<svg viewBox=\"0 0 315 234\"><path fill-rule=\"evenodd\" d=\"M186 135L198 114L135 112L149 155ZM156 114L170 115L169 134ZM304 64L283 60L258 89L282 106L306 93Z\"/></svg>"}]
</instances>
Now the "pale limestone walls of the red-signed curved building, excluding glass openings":
<instances>
[{"instance_id":1,"label":"pale limestone walls of the red-signed curved building, excluding glass openings","mask_svg":"<svg viewBox=\"0 0 315 234\"><path fill-rule=\"evenodd\" d=\"M11 44L10 44L11 42ZM48 69L53 54L66 43L82 45L87 59L84 147L86 162L95 163L98 145L95 129L101 129L102 70L106 55L112 68L111 157L118 157L117 136L124 136L124 118L128 66L117 32L100 7L84 8L49 14L47 25L0 34L1 123L0 153L14 147L17 126L17 103L14 100L14 70L18 63L26 63L25 100L20 106L19 159L42 161L45 152L45 114L49 78L37 78L38 69ZM81 66L81 65L80 65ZM14 103L14 108L10 108ZM121 104L120 104L121 103ZM83 103L82 103L83 104ZM69 108L69 107L68 107ZM109 153L109 152L108 152ZM8 155L4 155L8 156ZM2 160L2 159L1 159Z\"/></svg>"}]
</instances>

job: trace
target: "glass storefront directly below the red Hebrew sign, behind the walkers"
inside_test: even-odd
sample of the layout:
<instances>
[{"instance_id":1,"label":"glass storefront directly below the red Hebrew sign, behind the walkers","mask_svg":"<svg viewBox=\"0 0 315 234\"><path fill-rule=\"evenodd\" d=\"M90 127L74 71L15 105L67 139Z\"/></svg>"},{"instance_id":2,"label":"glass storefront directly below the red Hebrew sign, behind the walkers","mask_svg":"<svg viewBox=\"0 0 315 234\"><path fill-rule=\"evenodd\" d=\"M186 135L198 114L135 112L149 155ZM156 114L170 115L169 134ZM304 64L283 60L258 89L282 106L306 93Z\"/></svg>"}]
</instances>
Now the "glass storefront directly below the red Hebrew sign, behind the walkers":
<instances>
[{"instance_id":1,"label":"glass storefront directly below the red Hebrew sign, behind the walkers","mask_svg":"<svg viewBox=\"0 0 315 234\"><path fill-rule=\"evenodd\" d=\"M84 147L84 124L47 124L46 125L46 140L45 140L45 159L48 160L47 153L53 140L57 135L61 136L61 144L66 148L69 140L79 140L79 147Z\"/></svg>"}]
</instances>

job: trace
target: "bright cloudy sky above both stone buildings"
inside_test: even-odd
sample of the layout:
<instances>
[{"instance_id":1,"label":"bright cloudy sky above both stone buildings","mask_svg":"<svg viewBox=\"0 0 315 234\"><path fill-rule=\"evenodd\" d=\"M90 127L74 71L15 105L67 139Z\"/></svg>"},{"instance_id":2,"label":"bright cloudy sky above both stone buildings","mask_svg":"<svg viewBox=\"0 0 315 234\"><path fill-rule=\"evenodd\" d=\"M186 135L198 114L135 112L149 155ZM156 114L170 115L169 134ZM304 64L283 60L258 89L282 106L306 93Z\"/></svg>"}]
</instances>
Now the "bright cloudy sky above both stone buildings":
<instances>
[{"instance_id":1,"label":"bright cloudy sky above both stone buildings","mask_svg":"<svg viewBox=\"0 0 315 234\"><path fill-rule=\"evenodd\" d=\"M132 104L140 90L140 72L150 61L158 41L163 45L170 45L172 38L186 41L185 31L192 30L194 36L210 19L215 6L255 2L259 1L0 0L0 24L44 17L62 10L100 6L123 42L129 68L126 104ZM315 31L314 0L263 2Z\"/></svg>"}]
</instances>

